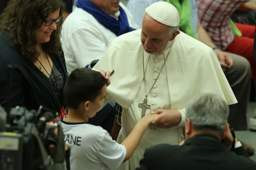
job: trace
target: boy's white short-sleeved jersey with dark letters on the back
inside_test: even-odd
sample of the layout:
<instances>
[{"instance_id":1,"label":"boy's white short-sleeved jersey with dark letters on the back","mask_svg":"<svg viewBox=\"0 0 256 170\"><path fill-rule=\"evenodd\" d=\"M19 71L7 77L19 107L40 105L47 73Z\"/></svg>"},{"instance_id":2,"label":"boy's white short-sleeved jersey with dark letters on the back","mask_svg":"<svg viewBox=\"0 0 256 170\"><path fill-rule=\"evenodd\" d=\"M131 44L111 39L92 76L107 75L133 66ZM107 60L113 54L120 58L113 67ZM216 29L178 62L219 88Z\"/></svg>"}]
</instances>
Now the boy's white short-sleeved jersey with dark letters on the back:
<instances>
[{"instance_id":1,"label":"boy's white short-sleeved jersey with dark letters on the back","mask_svg":"<svg viewBox=\"0 0 256 170\"><path fill-rule=\"evenodd\" d=\"M125 159L125 146L112 140L100 126L63 120L61 126L70 148L70 170L114 170Z\"/></svg>"}]
</instances>

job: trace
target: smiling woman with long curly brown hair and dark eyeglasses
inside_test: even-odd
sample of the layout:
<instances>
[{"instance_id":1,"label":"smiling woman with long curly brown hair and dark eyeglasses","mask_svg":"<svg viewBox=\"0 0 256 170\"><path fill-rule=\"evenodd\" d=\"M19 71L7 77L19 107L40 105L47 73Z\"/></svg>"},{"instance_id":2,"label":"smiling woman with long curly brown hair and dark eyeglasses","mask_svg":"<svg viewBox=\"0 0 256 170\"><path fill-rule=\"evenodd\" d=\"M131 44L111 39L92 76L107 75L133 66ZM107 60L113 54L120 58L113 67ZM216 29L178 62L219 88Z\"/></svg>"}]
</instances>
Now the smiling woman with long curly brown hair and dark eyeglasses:
<instances>
[{"instance_id":1,"label":"smiling woman with long curly brown hair and dark eyeglasses","mask_svg":"<svg viewBox=\"0 0 256 170\"><path fill-rule=\"evenodd\" d=\"M0 16L0 105L65 114L62 0L10 0ZM8 69L11 65L10 85ZM7 93L8 89L10 94Z\"/></svg>"}]
</instances>

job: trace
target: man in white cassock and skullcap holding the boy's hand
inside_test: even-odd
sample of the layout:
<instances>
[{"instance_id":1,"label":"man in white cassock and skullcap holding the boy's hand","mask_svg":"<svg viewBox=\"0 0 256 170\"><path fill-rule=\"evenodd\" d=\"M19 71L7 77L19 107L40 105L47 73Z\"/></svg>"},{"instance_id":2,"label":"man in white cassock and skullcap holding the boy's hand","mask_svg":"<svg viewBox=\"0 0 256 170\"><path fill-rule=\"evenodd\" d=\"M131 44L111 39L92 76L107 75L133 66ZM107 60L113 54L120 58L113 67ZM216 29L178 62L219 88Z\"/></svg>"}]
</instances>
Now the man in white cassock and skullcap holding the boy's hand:
<instances>
[{"instance_id":1,"label":"man in white cassock and skullcap holding the boy's hand","mask_svg":"<svg viewBox=\"0 0 256 170\"><path fill-rule=\"evenodd\" d=\"M142 29L114 39L94 70L115 70L104 102L122 106L121 143L145 114L162 112L147 129L136 151L120 170L139 166L144 150L184 139L187 103L202 93L237 100L213 49L177 30L179 13L167 2L146 9Z\"/></svg>"}]
</instances>

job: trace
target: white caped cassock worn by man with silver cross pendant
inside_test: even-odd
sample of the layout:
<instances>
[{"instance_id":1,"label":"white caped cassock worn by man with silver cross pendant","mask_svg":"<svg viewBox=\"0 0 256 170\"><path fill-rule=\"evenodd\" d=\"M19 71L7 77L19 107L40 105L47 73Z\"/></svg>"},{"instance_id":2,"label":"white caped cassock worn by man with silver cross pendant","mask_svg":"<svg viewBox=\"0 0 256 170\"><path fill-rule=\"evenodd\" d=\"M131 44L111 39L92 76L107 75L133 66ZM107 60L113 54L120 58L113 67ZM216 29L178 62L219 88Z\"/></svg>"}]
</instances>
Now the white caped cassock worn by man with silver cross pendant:
<instances>
[{"instance_id":1,"label":"white caped cassock worn by man with silver cross pendant","mask_svg":"<svg viewBox=\"0 0 256 170\"><path fill-rule=\"evenodd\" d=\"M115 70L111 84L107 88L106 100L114 99L122 106L122 128L118 143L130 134L141 118L139 103L145 98L145 86L142 67L141 30L132 31L114 39L106 55L94 66L94 70ZM184 139L184 124L187 103L202 93L218 94L228 104L237 100L219 65L214 51L200 41L180 33L169 42L164 54L170 56L148 96L150 109L146 115L157 109L174 109L181 112L182 120L178 127L171 129L148 128L136 151L129 161L120 166L120 170L134 170L142 159L144 150L160 143L178 144ZM147 60L149 60L147 66ZM163 54L147 54L144 51L145 79L147 92L163 65Z\"/></svg>"}]
</instances>

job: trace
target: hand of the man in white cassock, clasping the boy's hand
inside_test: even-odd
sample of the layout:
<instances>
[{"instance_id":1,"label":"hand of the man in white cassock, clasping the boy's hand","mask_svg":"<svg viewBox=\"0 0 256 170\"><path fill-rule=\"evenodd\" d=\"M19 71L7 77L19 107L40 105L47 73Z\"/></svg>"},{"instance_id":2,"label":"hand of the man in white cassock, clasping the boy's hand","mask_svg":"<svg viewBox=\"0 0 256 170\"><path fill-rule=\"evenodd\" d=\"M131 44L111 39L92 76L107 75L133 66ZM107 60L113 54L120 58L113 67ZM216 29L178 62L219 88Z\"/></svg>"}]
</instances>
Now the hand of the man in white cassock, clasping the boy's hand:
<instances>
[{"instance_id":1,"label":"hand of the man in white cassock, clasping the boy's hand","mask_svg":"<svg viewBox=\"0 0 256 170\"><path fill-rule=\"evenodd\" d=\"M152 121L151 125L159 128L172 128L181 122L181 113L178 110L158 109L155 113L160 114Z\"/></svg>"}]
</instances>

